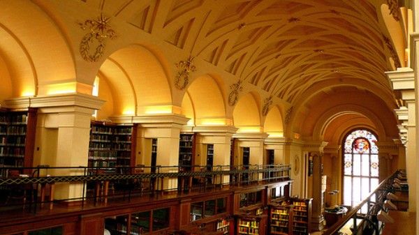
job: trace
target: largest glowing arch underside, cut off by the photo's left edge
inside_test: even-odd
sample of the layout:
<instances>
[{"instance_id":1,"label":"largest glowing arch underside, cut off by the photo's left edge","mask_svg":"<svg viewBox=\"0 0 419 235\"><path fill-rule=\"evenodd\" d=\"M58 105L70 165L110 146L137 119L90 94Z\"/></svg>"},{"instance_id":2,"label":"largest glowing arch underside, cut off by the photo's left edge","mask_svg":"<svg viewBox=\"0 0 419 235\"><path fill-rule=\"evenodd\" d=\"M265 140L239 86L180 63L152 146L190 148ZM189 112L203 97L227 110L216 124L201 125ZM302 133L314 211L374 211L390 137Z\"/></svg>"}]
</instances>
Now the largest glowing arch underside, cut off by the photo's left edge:
<instances>
[{"instance_id":1,"label":"largest glowing arch underside, cut off by the photo's left edge","mask_svg":"<svg viewBox=\"0 0 419 235\"><path fill-rule=\"evenodd\" d=\"M75 92L73 56L50 17L26 1L1 1L0 14L7 19L0 22L0 50L13 79L13 96L57 93L52 83L68 84Z\"/></svg>"}]
</instances>

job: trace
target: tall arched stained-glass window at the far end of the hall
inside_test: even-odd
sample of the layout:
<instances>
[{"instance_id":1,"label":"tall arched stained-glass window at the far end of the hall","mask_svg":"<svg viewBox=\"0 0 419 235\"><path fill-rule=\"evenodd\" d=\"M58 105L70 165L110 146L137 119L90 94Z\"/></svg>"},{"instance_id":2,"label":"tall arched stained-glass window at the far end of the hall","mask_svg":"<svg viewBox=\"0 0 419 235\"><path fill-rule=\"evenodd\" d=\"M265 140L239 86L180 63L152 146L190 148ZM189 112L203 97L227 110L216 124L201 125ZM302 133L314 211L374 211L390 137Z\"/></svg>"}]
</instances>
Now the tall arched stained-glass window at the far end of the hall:
<instances>
[{"instance_id":1,"label":"tall arched stained-glass window at the far end of the hall","mask_svg":"<svg viewBox=\"0 0 419 235\"><path fill-rule=\"evenodd\" d=\"M358 206L378 186L376 142L369 130L353 130L344 139L344 205Z\"/></svg>"}]
</instances>

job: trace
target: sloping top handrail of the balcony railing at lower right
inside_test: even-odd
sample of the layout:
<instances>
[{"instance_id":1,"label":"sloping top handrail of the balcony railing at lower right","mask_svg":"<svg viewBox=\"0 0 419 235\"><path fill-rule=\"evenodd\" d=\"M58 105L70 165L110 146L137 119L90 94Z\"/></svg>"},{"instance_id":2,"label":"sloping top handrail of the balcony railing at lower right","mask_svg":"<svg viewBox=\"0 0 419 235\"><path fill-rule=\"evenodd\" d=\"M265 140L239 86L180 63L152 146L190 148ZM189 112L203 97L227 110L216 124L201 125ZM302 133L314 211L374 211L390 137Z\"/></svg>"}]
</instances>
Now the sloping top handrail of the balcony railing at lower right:
<instances>
[{"instance_id":1,"label":"sloping top handrail of the balcony railing at lower right","mask_svg":"<svg viewBox=\"0 0 419 235\"><path fill-rule=\"evenodd\" d=\"M388 181L390 181L391 179L394 179L395 176L397 176L397 174L399 173L399 171L400 170L397 170L395 173L391 174L390 176L385 178L383 181L381 181L381 183L377 186L377 188L373 192L369 193L369 195L362 202L360 202L360 204L358 204L358 206L356 206L355 209L352 209L351 211L346 213L344 217L337 220L337 222L334 225L332 225L332 227L330 227L328 230L323 232L323 235L336 234L339 231L339 229L341 229L341 227L344 227L346 222L348 222L351 218L357 217L357 212L360 211L360 209L362 208L362 206L364 206L364 204L366 203L369 204L369 202L371 202L371 197L373 197L380 190L388 189Z\"/></svg>"}]
</instances>

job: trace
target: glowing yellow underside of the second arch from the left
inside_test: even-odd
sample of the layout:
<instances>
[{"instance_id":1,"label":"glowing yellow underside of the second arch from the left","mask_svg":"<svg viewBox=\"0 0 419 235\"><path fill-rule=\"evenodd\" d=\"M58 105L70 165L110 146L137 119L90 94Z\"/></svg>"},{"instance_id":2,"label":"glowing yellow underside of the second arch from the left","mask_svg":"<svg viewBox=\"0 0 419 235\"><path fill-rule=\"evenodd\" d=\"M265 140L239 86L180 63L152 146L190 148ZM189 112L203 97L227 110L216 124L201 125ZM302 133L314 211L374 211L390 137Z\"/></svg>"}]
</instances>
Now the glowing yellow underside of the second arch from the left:
<instances>
[{"instance_id":1,"label":"glowing yellow underside of the second arch from the left","mask_svg":"<svg viewBox=\"0 0 419 235\"><path fill-rule=\"evenodd\" d=\"M168 78L159 59L147 48L130 45L117 50L100 71L120 101L121 107L115 109L115 114L171 112Z\"/></svg>"}]
</instances>

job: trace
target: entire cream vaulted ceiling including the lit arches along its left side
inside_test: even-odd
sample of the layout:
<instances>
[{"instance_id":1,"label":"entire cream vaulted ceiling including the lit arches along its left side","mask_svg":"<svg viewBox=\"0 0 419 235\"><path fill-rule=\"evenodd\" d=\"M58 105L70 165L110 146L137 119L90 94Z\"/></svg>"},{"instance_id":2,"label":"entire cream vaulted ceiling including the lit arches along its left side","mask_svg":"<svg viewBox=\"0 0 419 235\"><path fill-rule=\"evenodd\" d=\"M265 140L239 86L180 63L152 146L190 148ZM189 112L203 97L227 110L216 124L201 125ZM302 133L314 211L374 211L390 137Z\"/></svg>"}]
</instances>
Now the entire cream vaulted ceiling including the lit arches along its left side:
<instances>
[{"instance_id":1,"label":"entire cream vaulted ceiling including the lit arches along its left side","mask_svg":"<svg viewBox=\"0 0 419 235\"><path fill-rule=\"evenodd\" d=\"M257 125L275 110L282 123L274 129L292 126L279 130L290 137L324 135L327 122L336 123L331 116L339 123L356 116L397 136L397 97L385 76L409 66L409 17L397 0L5 0L0 7L0 81L7 84L0 102L48 95L55 85L91 93L99 76L114 106L105 108L110 114L144 114L153 105L179 109L189 100L185 106L202 110L196 116L224 116L226 124L240 99L253 99L240 107L258 109ZM91 46L84 52L103 53L94 61L81 54L87 20L105 20L102 33L117 36L108 34L103 47L96 47L98 38L84 44ZM179 90L177 64L188 57L196 72ZM198 86L207 89L188 91ZM216 94L207 100L219 100L217 116L193 106L202 94ZM328 110L335 113L324 116Z\"/></svg>"}]
</instances>

